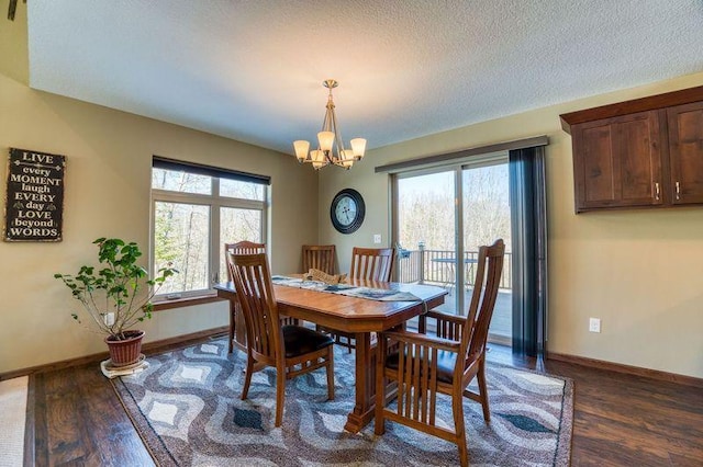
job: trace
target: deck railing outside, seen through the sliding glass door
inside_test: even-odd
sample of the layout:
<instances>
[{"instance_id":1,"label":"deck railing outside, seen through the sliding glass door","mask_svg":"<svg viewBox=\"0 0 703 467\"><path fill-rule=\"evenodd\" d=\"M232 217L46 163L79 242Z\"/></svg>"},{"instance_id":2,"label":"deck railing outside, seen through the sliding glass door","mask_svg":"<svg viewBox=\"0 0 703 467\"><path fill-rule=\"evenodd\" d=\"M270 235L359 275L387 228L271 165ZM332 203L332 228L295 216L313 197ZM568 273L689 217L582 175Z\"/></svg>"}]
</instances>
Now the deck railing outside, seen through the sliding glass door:
<instances>
[{"instance_id":1,"label":"deck railing outside, seen through the sliding glass door","mask_svg":"<svg viewBox=\"0 0 703 467\"><path fill-rule=\"evenodd\" d=\"M464 252L464 280L467 286L472 286L476 281L476 261L478 251ZM438 284L448 286L456 281L456 261L454 251L449 250L399 250L398 274L400 282L419 284ZM503 260L503 274L501 275L501 288L512 288L512 253L505 253Z\"/></svg>"}]
</instances>

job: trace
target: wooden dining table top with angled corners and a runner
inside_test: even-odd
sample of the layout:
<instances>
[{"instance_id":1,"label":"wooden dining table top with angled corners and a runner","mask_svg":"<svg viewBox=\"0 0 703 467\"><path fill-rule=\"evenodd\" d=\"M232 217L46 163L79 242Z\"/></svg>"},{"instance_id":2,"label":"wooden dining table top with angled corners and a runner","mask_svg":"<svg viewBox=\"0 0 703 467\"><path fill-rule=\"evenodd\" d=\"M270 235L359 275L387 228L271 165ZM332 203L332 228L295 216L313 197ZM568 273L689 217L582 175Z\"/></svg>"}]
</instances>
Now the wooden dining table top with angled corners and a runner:
<instances>
[{"instance_id":1,"label":"wooden dining table top with angled corners and a runner","mask_svg":"<svg viewBox=\"0 0 703 467\"><path fill-rule=\"evenodd\" d=\"M291 274L290 276L295 276ZM384 331L444 303L443 287L395 282L347 280L350 285L406 292L417 297L412 301L381 301L274 284L274 294L281 315L328 326L346 332ZM232 282L215 285L216 289L235 293Z\"/></svg>"}]
</instances>

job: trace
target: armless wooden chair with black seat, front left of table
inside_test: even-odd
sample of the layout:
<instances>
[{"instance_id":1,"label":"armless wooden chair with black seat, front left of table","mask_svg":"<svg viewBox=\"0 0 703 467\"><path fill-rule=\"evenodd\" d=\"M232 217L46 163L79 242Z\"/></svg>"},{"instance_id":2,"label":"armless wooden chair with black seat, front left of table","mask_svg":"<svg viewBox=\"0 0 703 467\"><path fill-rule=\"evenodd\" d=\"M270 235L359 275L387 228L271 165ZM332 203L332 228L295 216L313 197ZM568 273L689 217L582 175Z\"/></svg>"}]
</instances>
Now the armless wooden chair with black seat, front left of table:
<instances>
[{"instance_id":1,"label":"armless wooden chair with black seat, front left of table","mask_svg":"<svg viewBox=\"0 0 703 467\"><path fill-rule=\"evenodd\" d=\"M276 426L283 419L286 380L317 368L327 372L327 399L334 399L334 341L326 334L294 324L280 324L266 253L231 254L232 276L246 326L246 373L242 400L252 374L276 368Z\"/></svg>"}]
</instances>

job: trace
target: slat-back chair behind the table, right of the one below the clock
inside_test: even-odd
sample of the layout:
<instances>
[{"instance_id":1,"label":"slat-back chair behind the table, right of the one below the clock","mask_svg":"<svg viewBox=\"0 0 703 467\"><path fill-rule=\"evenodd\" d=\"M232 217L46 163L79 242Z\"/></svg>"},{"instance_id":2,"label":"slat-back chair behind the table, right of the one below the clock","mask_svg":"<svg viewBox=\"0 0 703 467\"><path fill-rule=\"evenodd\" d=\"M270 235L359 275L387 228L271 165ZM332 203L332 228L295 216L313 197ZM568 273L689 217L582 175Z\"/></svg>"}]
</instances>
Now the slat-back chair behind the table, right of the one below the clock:
<instances>
[{"instance_id":1,"label":"slat-back chair behind the table, right of the one below the clock","mask_svg":"<svg viewBox=\"0 0 703 467\"><path fill-rule=\"evenodd\" d=\"M395 258L394 248L359 248L354 247L352 250L352 267L349 271L349 280L367 280L377 282L390 282L393 272L393 259ZM338 331L327 327L317 326L321 332L327 332L334 339L337 345L349 349L356 348L354 334L349 332Z\"/></svg>"}]
</instances>

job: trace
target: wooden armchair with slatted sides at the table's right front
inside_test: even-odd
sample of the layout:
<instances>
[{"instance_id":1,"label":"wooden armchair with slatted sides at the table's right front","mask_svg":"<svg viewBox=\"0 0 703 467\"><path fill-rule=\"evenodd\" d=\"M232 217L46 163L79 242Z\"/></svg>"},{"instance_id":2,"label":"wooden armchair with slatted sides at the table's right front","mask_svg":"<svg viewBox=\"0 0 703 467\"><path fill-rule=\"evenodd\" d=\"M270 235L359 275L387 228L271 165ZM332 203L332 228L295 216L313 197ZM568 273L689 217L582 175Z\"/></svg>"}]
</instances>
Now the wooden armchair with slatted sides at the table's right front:
<instances>
[{"instance_id":1,"label":"wooden armchair with slatted sides at the table's right front","mask_svg":"<svg viewBox=\"0 0 703 467\"><path fill-rule=\"evenodd\" d=\"M481 403L483 419L491 421L486 385L486 342L503 270L505 244L502 239L479 248L476 282L466 317L431 310L421 316L420 331L392 330L378 334L376 369L377 435L390 420L455 443L460 465L469 465L464 424L464 397ZM426 319L436 320L436 335L428 335ZM389 341L394 351L388 352ZM467 387L478 379L478 392ZM395 407L387 406L387 381L397 384ZM454 430L437 420L437 395L451 398Z\"/></svg>"}]
</instances>

